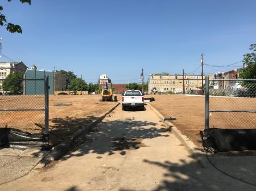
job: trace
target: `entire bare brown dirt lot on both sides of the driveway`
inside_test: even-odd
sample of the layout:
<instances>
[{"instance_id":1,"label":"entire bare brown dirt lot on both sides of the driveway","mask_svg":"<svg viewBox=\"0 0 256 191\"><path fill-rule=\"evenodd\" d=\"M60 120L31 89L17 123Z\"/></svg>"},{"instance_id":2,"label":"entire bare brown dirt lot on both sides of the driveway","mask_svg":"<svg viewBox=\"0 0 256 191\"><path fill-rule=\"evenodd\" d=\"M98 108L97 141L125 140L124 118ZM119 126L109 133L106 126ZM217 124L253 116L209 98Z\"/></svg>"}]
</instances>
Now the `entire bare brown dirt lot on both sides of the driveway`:
<instances>
[{"instance_id":1,"label":"entire bare brown dirt lot on both sides of the driveway","mask_svg":"<svg viewBox=\"0 0 256 191\"><path fill-rule=\"evenodd\" d=\"M145 97L151 97L146 95ZM153 95L151 103L165 117L176 117L174 125L201 147L200 130L204 129L204 97L183 95ZM69 138L90 120L108 111L115 102L100 102L99 95L50 96L50 130ZM118 100L121 95L118 95ZM18 104L17 104L18 103ZM44 108L43 96L1 96L0 108ZM210 109L256 110L256 98L210 97ZM32 117L31 117L32 116ZM31 133L42 131L44 112L0 112L0 127L21 129ZM37 124L37 125L35 125ZM210 127L256 128L255 113L210 113ZM52 142L59 139L51 137Z\"/></svg>"}]
</instances>

